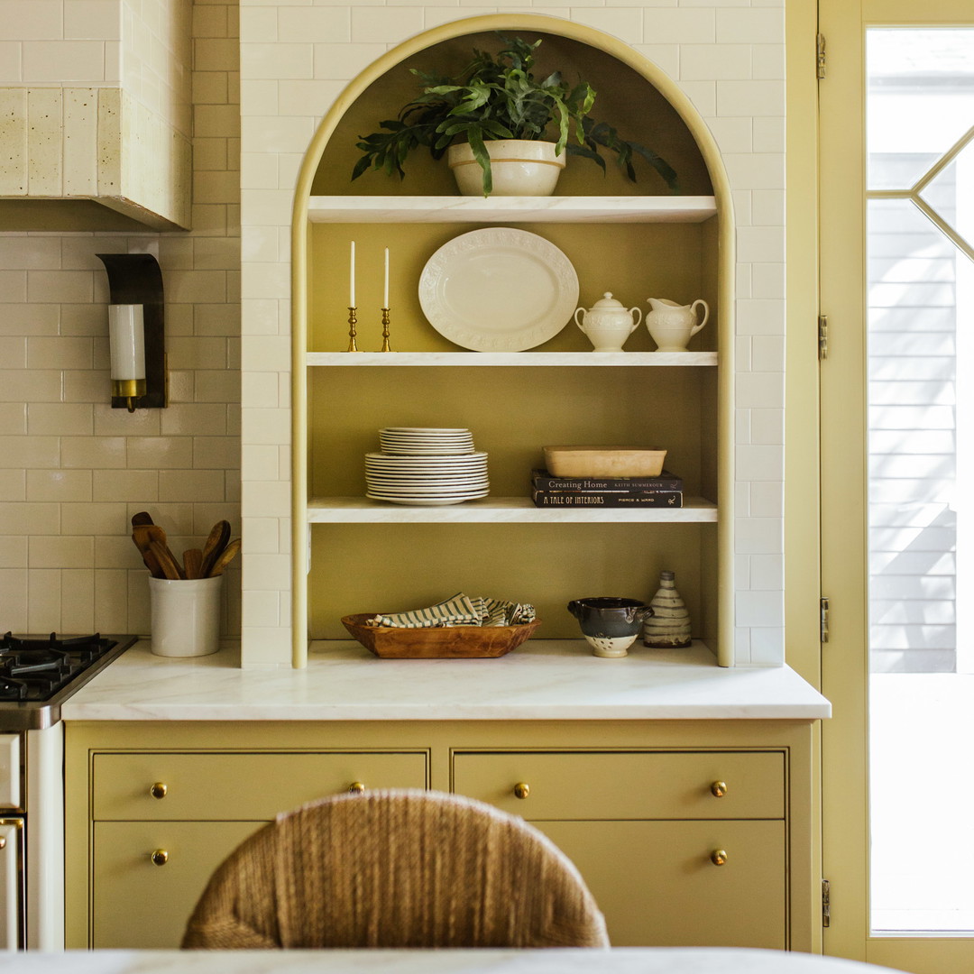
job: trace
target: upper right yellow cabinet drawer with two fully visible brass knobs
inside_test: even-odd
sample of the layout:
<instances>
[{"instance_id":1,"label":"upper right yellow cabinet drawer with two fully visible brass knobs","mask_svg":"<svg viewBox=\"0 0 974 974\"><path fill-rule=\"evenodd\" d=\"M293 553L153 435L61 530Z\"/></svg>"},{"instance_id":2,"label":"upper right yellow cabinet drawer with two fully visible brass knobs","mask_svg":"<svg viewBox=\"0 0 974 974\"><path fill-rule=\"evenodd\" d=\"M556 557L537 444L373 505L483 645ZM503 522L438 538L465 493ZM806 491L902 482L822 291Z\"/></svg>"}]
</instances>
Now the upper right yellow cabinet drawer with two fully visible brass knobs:
<instances>
[{"instance_id":1,"label":"upper right yellow cabinet drawer with two fully visible brass knobs","mask_svg":"<svg viewBox=\"0 0 974 974\"><path fill-rule=\"evenodd\" d=\"M779 751L460 752L453 790L532 821L783 818L784 767Z\"/></svg>"}]
</instances>

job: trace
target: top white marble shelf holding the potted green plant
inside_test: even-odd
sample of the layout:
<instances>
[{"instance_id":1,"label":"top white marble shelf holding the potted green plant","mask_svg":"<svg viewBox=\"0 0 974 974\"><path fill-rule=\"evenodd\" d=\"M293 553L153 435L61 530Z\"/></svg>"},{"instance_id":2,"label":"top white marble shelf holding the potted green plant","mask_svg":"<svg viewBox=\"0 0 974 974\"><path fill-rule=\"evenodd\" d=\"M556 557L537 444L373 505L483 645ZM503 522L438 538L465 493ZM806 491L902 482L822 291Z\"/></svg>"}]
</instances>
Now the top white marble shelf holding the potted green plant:
<instances>
[{"instance_id":1,"label":"top white marble shelf holding the potted green plant","mask_svg":"<svg viewBox=\"0 0 974 974\"><path fill-rule=\"evenodd\" d=\"M712 196L313 196L312 223L702 223Z\"/></svg>"}]
</instances>

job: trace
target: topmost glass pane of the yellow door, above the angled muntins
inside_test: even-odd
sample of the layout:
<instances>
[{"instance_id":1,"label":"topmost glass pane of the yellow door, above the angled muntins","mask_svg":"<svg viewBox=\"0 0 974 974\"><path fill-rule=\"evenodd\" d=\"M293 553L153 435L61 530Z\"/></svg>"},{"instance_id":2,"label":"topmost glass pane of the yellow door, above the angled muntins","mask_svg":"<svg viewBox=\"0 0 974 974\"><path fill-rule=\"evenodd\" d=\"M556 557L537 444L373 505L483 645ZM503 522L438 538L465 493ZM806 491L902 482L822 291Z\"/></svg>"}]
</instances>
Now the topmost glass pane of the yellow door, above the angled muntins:
<instances>
[{"instance_id":1,"label":"topmost glass pane of the yellow door, above the angled muntins","mask_svg":"<svg viewBox=\"0 0 974 974\"><path fill-rule=\"evenodd\" d=\"M909 189L974 124L967 28L866 34L868 185Z\"/></svg>"}]
</instances>

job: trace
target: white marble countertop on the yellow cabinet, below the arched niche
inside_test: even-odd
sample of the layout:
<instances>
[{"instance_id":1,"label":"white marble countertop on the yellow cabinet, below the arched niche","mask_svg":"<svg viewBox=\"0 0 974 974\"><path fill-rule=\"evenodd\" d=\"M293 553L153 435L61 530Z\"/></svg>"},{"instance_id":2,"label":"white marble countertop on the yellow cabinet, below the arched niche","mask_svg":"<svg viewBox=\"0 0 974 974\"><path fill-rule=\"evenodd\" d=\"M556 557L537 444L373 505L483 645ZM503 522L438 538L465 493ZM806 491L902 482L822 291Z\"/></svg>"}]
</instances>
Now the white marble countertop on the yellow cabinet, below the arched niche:
<instances>
[{"instance_id":1,"label":"white marble countertop on the yellow cabinet, below the arched niche","mask_svg":"<svg viewBox=\"0 0 974 974\"><path fill-rule=\"evenodd\" d=\"M316 643L305 669L236 651L153 656L137 643L61 707L73 721L814 720L831 706L787 666L723 668L705 646L592 656L535 640L499 659L378 659Z\"/></svg>"}]
</instances>

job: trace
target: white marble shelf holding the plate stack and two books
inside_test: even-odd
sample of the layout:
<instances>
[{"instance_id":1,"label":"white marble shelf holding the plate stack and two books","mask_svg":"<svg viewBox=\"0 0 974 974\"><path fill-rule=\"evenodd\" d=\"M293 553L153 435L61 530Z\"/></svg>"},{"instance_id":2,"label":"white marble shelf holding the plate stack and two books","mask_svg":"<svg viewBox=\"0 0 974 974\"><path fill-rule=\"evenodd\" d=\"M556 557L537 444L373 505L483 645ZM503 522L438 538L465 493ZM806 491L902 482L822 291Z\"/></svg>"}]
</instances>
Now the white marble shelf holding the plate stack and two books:
<instances>
[{"instance_id":1,"label":"white marble shelf holding the plate stack and two books","mask_svg":"<svg viewBox=\"0 0 974 974\"><path fill-rule=\"evenodd\" d=\"M717 505L684 498L683 507L536 507L527 497L489 497L446 506L408 506L365 497L317 497L308 503L310 524L564 524L716 522Z\"/></svg>"}]
</instances>

